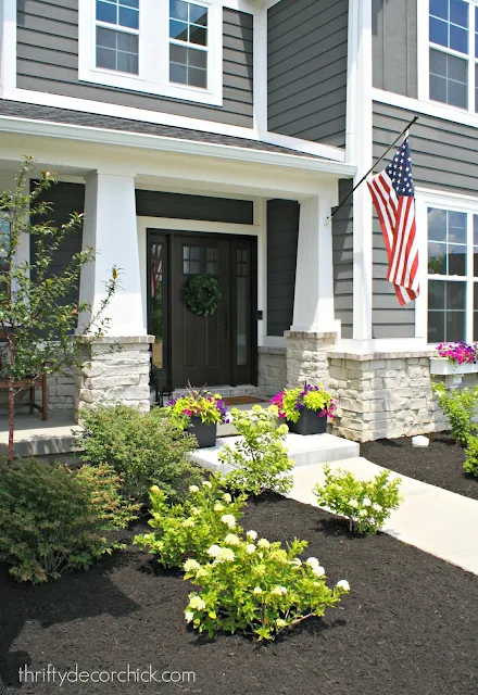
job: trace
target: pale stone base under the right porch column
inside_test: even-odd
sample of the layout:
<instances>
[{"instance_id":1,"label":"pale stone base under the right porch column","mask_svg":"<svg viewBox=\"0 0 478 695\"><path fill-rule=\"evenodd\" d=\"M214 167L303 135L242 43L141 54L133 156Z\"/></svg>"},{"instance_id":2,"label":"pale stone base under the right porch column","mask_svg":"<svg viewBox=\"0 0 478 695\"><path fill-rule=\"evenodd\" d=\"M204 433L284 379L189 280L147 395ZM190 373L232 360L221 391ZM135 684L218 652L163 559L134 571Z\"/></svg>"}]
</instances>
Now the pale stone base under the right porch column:
<instances>
[{"instance_id":1,"label":"pale stone base under the right porch column","mask_svg":"<svg viewBox=\"0 0 478 695\"><path fill-rule=\"evenodd\" d=\"M327 351L331 350L337 333L316 333L288 330L287 339L287 388L295 389L304 381L313 386L328 387Z\"/></svg>"}]
</instances>

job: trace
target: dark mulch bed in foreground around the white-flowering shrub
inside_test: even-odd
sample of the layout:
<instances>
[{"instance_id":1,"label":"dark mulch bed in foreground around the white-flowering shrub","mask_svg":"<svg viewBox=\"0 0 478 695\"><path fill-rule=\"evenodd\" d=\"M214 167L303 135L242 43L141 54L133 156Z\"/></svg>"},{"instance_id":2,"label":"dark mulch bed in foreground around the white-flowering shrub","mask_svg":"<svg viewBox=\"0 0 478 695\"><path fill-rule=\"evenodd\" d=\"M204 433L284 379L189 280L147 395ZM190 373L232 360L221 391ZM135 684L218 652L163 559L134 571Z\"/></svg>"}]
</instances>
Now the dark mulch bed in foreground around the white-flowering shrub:
<instances>
[{"instance_id":1,"label":"dark mulch bed in foreground around the white-flowering shrub","mask_svg":"<svg viewBox=\"0 0 478 695\"><path fill-rule=\"evenodd\" d=\"M243 521L271 540L309 539L329 579L350 581L350 596L324 620L264 647L236 635L196 636L183 618L189 583L154 573L137 549L40 586L15 584L2 567L0 672L13 683L25 662L35 670L151 664L197 679L20 691L35 695L476 695L478 577L387 535L350 536L342 521L282 497L250 503Z\"/></svg>"}]
</instances>

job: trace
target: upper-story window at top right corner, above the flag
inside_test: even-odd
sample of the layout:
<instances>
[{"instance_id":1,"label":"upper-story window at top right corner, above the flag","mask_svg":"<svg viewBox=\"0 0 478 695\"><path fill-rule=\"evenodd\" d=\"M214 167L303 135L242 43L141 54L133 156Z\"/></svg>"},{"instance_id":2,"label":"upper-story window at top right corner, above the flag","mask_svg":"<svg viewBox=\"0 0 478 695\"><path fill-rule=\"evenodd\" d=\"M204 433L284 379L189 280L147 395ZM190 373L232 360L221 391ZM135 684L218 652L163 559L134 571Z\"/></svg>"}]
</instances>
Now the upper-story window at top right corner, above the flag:
<instances>
[{"instance_id":1,"label":"upper-story window at top right corner, above the flag","mask_svg":"<svg viewBox=\"0 0 478 695\"><path fill-rule=\"evenodd\" d=\"M429 0L429 98L478 111L478 7Z\"/></svg>"}]
</instances>

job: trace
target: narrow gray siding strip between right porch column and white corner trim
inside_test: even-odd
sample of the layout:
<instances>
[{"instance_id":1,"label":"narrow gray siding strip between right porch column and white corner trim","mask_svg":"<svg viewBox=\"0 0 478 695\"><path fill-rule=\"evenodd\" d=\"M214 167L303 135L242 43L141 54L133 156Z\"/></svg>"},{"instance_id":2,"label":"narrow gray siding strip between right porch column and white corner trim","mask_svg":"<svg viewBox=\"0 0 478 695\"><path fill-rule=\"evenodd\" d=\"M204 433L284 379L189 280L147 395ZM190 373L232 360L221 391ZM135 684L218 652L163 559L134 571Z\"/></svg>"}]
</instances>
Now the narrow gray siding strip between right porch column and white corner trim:
<instances>
[{"instance_id":1,"label":"narrow gray siding strip between right porch column and white corner trim","mask_svg":"<svg viewBox=\"0 0 478 695\"><path fill-rule=\"evenodd\" d=\"M353 181L339 181L339 201L352 190ZM336 318L342 321L342 338L353 331L353 206L352 198L334 215L334 303Z\"/></svg>"}]
</instances>

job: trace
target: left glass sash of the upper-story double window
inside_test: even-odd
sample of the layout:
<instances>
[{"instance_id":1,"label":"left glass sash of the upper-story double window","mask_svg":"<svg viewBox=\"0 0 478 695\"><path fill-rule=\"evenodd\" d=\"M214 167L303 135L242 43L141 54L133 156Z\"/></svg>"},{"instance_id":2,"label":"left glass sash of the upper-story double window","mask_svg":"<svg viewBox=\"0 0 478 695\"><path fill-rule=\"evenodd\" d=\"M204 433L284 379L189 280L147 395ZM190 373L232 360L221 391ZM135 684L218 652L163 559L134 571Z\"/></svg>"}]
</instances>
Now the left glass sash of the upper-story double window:
<instances>
[{"instance_id":1,"label":"left glass sash of the upper-story double window","mask_svg":"<svg viewBox=\"0 0 478 695\"><path fill-rule=\"evenodd\" d=\"M138 74L139 0L97 0L97 67Z\"/></svg>"}]
</instances>

